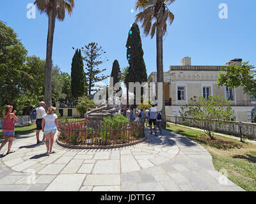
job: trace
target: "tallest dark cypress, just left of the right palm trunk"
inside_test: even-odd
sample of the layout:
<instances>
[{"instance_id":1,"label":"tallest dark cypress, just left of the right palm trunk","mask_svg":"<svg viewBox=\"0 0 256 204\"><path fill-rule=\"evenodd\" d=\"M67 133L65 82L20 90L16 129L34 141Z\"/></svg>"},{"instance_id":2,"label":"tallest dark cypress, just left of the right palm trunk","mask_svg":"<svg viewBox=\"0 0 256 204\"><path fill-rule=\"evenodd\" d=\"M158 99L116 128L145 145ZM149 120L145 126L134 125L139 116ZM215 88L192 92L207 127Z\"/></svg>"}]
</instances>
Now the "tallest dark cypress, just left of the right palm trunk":
<instances>
[{"instance_id":1,"label":"tallest dark cypress, just left of the right palm trunk","mask_svg":"<svg viewBox=\"0 0 256 204\"><path fill-rule=\"evenodd\" d=\"M129 73L127 75L128 82L147 82L147 69L143 59L143 49L140 37L140 29L138 24L134 23L129 31L127 39L127 60L129 62ZM134 88L134 94L135 88ZM143 91L141 89L141 94ZM142 95L141 95L142 96Z\"/></svg>"}]
</instances>

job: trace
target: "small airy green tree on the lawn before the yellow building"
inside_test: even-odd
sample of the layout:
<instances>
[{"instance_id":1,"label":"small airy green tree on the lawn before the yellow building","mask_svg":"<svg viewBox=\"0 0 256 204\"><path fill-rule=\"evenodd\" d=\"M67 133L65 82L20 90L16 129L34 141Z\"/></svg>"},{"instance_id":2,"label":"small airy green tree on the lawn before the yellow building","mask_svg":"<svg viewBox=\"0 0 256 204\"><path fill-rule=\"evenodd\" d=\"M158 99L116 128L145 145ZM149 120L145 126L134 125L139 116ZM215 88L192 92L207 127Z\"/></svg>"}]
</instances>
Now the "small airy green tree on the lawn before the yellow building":
<instances>
[{"instance_id":1,"label":"small airy green tree on the lawn before the yellow building","mask_svg":"<svg viewBox=\"0 0 256 204\"><path fill-rule=\"evenodd\" d=\"M219 96L209 96L209 99L194 96L186 106L182 106L180 116L184 124L196 124L214 140L214 129L223 126L225 121L235 120L234 110L230 101Z\"/></svg>"}]
</instances>

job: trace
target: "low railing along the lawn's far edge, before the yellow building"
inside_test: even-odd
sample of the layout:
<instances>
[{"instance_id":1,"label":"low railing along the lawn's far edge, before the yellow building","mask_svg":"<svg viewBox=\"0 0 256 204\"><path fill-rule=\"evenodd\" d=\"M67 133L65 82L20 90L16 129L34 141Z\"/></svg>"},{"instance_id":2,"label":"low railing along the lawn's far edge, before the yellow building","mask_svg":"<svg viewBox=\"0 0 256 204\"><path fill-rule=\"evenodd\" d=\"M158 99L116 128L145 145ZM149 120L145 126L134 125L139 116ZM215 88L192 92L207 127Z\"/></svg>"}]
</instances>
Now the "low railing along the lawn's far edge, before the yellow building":
<instances>
[{"instance_id":1,"label":"low railing along the lawn's far edge, before the yellow building","mask_svg":"<svg viewBox=\"0 0 256 204\"><path fill-rule=\"evenodd\" d=\"M182 117L177 115L166 115L166 121L172 122L174 124L181 124L184 126L201 128L204 126L204 120L200 120L200 122L196 122L196 119L191 117L185 117L185 120L182 120ZM216 120L212 120L212 122L216 123ZM256 123L249 122L227 122L223 121L222 126L215 126L214 131L216 133L224 133L227 135L234 136L246 136L250 140L256 139Z\"/></svg>"}]
</instances>

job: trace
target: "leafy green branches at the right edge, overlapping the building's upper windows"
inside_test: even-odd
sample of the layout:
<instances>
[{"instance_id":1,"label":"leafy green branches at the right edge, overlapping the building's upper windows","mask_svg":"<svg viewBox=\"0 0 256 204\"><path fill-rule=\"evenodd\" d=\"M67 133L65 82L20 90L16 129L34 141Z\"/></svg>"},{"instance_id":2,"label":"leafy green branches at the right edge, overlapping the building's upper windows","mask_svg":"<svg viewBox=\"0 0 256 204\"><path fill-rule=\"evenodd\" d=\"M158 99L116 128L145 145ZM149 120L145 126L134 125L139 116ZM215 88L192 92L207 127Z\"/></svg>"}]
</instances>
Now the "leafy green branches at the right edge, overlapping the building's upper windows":
<instances>
[{"instance_id":1,"label":"leafy green branches at the right edge, overlapping the building's upper windows","mask_svg":"<svg viewBox=\"0 0 256 204\"><path fill-rule=\"evenodd\" d=\"M252 94L256 98L256 73L255 66L249 62L243 62L241 66L232 64L221 68L218 78L219 86L226 86L230 89L243 87L245 93Z\"/></svg>"}]
</instances>

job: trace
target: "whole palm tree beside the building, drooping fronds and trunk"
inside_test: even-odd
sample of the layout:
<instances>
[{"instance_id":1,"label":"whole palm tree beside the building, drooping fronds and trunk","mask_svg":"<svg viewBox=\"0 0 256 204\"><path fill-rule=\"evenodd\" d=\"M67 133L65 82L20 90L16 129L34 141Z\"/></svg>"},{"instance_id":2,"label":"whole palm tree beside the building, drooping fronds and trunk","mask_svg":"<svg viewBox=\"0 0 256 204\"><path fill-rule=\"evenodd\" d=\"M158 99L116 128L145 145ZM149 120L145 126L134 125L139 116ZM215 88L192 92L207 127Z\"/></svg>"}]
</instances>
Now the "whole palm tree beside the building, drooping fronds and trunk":
<instances>
[{"instance_id":1,"label":"whole palm tree beside the building, drooping fronds and trunk","mask_svg":"<svg viewBox=\"0 0 256 204\"><path fill-rule=\"evenodd\" d=\"M156 33L157 47L157 82L164 83L163 71L163 36L167 32L166 22L173 23L174 15L168 9L168 6L175 0L137 0L136 10L142 10L136 15L136 22L141 22L145 36L150 34L151 38ZM153 23L154 22L154 23ZM152 24L153 23L153 24ZM166 125L164 85L163 85L163 125Z\"/></svg>"}]
</instances>

